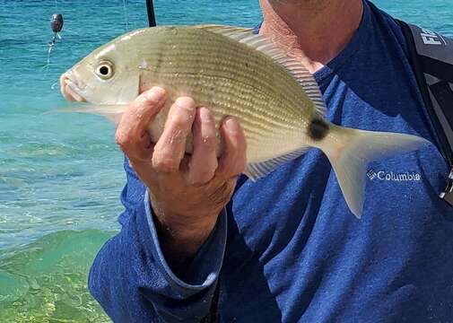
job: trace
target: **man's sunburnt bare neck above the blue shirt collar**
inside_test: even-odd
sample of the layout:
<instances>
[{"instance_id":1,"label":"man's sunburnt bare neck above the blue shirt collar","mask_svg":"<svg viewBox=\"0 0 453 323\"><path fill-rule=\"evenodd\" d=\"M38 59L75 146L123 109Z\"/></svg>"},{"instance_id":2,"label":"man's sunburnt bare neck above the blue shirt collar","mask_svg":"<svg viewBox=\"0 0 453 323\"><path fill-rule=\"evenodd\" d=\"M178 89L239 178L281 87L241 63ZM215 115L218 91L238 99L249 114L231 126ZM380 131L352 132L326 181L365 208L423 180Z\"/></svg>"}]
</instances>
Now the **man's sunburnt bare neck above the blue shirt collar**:
<instances>
[{"instance_id":1,"label":"man's sunburnt bare neck above the blue shirt collar","mask_svg":"<svg viewBox=\"0 0 453 323\"><path fill-rule=\"evenodd\" d=\"M362 0L260 0L263 34L288 55L300 59L315 73L335 58L353 38L362 21Z\"/></svg>"}]
</instances>

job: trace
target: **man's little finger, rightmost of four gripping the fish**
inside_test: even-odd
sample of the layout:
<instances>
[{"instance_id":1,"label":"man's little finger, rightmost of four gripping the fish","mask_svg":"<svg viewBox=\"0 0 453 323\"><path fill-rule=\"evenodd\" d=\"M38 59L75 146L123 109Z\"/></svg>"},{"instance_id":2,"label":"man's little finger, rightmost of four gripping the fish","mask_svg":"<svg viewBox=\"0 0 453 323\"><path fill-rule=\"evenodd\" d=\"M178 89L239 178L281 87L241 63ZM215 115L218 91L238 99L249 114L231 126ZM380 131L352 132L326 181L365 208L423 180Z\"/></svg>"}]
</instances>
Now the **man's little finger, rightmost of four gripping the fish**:
<instances>
[{"instance_id":1,"label":"man's little finger, rightmost of four gripping the fish","mask_svg":"<svg viewBox=\"0 0 453 323\"><path fill-rule=\"evenodd\" d=\"M217 175L230 179L240 175L247 163L247 144L244 131L236 118L226 118L222 122L223 152Z\"/></svg>"}]
</instances>

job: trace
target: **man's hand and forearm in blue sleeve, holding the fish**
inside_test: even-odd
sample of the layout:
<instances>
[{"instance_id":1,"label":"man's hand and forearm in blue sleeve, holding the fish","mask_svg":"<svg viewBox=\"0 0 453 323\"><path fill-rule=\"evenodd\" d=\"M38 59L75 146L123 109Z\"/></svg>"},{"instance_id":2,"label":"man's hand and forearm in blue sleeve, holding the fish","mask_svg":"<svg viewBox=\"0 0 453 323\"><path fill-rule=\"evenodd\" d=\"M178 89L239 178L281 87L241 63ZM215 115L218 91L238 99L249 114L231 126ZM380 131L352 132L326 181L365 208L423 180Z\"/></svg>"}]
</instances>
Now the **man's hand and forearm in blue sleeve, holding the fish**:
<instances>
[{"instance_id":1,"label":"man's hand and forearm in blue sleeve, holding the fish","mask_svg":"<svg viewBox=\"0 0 453 323\"><path fill-rule=\"evenodd\" d=\"M126 215L119 219L123 230L100 250L89 280L115 321L199 322L209 313L226 246L222 210L247 160L239 122L225 118L217 128L209 109L187 97L172 103L160 138L152 142L148 127L165 102L162 89L142 93L117 127L116 141L128 157ZM146 188L156 196L152 203Z\"/></svg>"}]
</instances>

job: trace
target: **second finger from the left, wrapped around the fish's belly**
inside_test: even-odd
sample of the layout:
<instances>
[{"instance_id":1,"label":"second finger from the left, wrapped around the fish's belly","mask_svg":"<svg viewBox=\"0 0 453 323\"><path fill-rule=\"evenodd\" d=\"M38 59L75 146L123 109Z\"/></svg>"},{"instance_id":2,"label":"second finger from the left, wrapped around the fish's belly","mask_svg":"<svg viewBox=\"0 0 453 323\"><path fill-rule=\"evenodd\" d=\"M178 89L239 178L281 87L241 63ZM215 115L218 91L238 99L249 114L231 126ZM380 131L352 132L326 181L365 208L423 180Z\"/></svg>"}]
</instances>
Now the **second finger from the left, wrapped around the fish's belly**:
<instances>
[{"instance_id":1,"label":"second finger from the left, wrapped around the fish's belly","mask_svg":"<svg viewBox=\"0 0 453 323\"><path fill-rule=\"evenodd\" d=\"M154 146L152 166L155 170L161 172L179 170L195 115L196 103L191 98L179 98L171 106L161 138Z\"/></svg>"}]
</instances>

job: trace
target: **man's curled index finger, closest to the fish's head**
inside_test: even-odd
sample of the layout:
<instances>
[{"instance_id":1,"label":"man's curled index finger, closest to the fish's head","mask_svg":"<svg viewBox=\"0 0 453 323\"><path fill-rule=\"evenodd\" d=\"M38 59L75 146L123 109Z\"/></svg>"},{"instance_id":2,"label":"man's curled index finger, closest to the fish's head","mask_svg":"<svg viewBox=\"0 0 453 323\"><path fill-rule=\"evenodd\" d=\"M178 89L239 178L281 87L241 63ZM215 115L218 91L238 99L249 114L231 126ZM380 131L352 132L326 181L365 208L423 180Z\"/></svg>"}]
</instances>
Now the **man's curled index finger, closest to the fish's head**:
<instances>
[{"instance_id":1,"label":"man's curled index finger, closest to the fish's head","mask_svg":"<svg viewBox=\"0 0 453 323\"><path fill-rule=\"evenodd\" d=\"M142 93L123 114L116 132L116 141L129 158L149 159L151 139L147 127L165 103L165 91L155 87Z\"/></svg>"}]
</instances>

